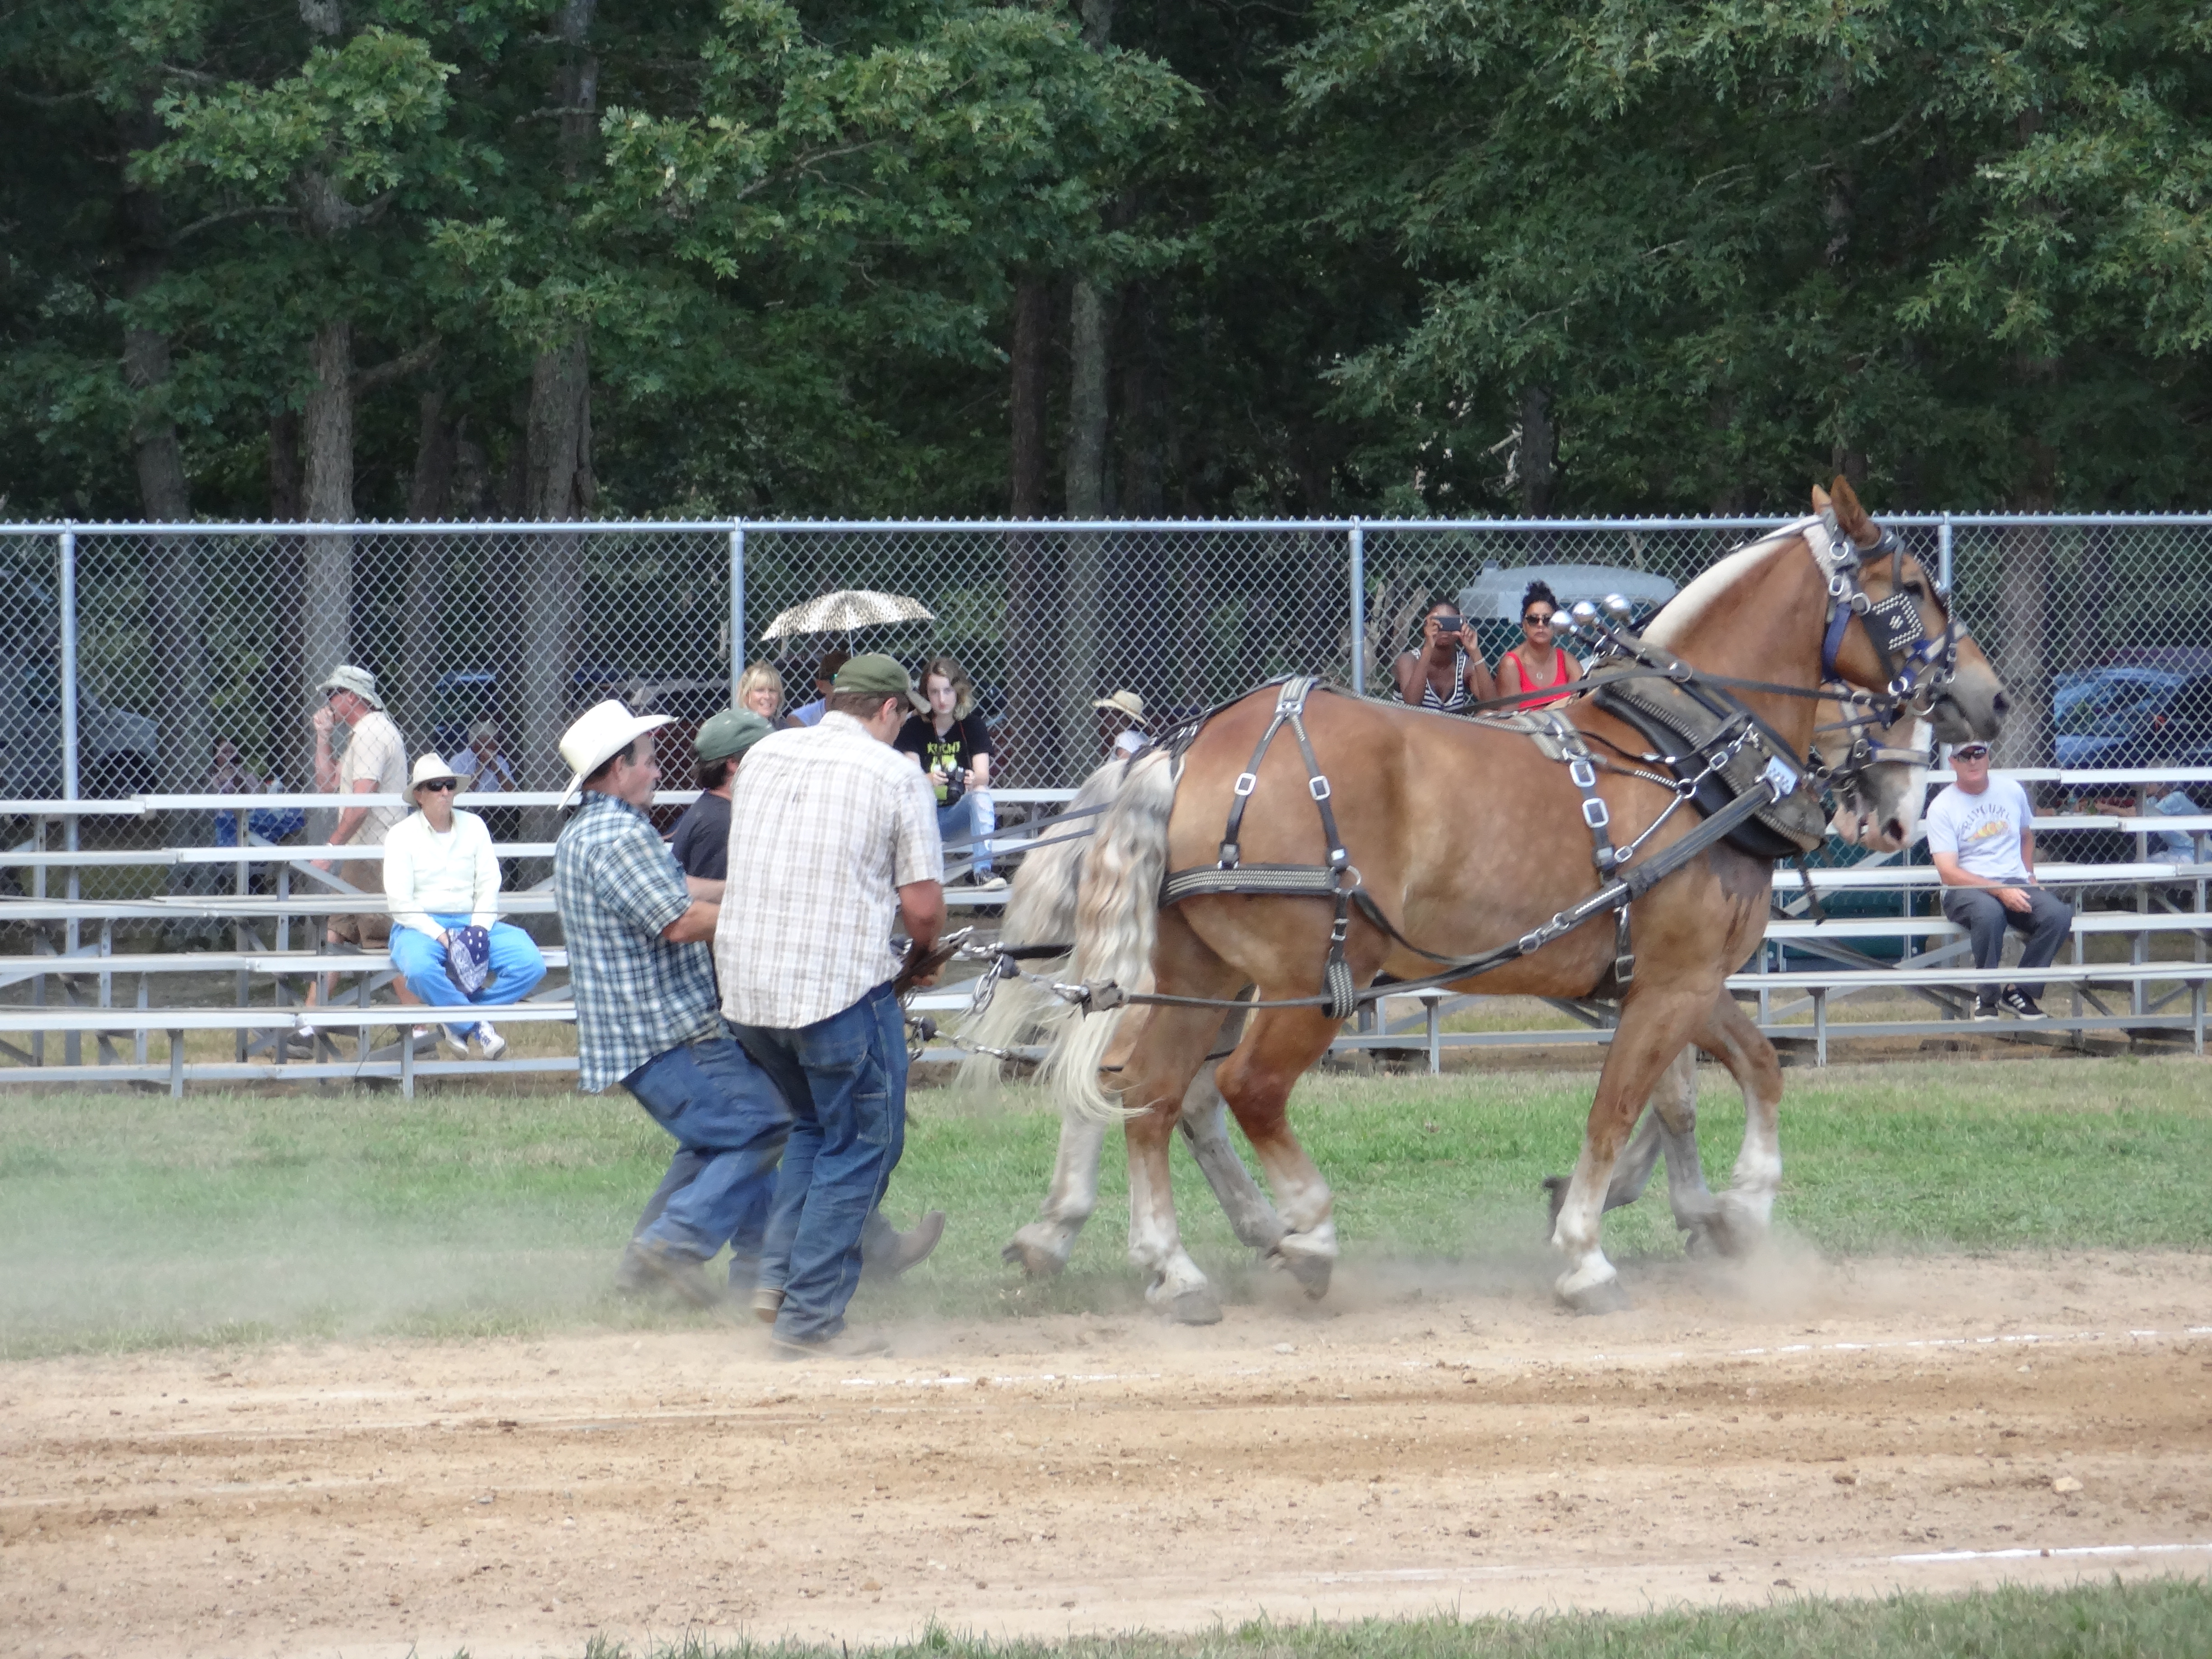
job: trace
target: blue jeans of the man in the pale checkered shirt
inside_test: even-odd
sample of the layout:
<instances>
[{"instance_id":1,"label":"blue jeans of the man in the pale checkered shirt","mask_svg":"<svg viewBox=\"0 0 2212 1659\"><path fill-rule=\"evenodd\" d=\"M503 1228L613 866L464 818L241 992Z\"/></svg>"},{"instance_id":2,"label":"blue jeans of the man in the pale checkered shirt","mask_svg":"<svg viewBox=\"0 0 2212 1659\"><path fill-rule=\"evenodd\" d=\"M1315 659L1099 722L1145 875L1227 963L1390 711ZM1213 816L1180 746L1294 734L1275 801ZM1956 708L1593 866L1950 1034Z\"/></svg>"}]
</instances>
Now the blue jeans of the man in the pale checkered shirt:
<instances>
[{"instance_id":1,"label":"blue jeans of the man in the pale checkered shirt","mask_svg":"<svg viewBox=\"0 0 2212 1659\"><path fill-rule=\"evenodd\" d=\"M860 1232L907 1148L907 1024L885 982L796 1031L734 1031L792 1102L761 1287L783 1292L776 1336L818 1343L845 1329Z\"/></svg>"}]
</instances>

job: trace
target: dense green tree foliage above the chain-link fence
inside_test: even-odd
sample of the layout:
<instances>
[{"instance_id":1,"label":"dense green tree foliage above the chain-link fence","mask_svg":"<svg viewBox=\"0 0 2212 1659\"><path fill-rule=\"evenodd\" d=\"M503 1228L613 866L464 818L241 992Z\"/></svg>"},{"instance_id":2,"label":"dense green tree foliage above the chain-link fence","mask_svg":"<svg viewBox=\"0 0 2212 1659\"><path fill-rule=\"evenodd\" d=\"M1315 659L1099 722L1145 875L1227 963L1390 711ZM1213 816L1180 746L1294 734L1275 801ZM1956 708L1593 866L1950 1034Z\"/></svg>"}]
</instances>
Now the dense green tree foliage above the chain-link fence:
<instances>
[{"instance_id":1,"label":"dense green tree foliage above the chain-link fence","mask_svg":"<svg viewBox=\"0 0 2212 1659\"><path fill-rule=\"evenodd\" d=\"M363 515L557 498L555 394L591 511L1004 511L1018 294L1064 341L1082 281L1115 511L2201 504L2208 46L2181 0L20 0L0 491L137 515L173 453L281 509L343 334Z\"/></svg>"}]
</instances>

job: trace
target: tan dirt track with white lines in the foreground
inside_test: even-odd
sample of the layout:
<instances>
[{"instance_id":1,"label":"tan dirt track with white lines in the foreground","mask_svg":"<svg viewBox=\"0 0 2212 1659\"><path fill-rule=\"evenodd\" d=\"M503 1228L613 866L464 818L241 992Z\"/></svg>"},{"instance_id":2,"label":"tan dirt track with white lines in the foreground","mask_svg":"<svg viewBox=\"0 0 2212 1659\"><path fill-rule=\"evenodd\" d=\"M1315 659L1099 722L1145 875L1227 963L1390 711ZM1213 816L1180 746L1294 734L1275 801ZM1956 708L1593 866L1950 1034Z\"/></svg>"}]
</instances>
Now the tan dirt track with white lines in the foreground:
<instances>
[{"instance_id":1,"label":"tan dirt track with white lines in the foreground","mask_svg":"<svg viewBox=\"0 0 2212 1659\"><path fill-rule=\"evenodd\" d=\"M0 1367L0 1648L580 1655L2212 1568L2212 1259ZM1287 1290L1287 1287L1285 1287Z\"/></svg>"}]
</instances>

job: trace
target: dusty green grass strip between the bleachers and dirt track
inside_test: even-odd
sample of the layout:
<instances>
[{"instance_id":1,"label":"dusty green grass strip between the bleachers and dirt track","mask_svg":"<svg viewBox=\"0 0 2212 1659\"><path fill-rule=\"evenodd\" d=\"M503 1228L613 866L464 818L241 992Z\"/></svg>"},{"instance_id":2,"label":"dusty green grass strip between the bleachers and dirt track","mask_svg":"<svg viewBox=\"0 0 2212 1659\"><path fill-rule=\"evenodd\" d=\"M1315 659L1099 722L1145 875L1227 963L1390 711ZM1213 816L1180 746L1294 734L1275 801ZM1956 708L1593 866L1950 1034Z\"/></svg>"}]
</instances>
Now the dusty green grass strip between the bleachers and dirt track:
<instances>
[{"instance_id":1,"label":"dusty green grass strip between the bleachers and dirt track","mask_svg":"<svg viewBox=\"0 0 2212 1659\"><path fill-rule=\"evenodd\" d=\"M2190 1060L2031 1060L1790 1073L1781 1221L1829 1254L2212 1248L2212 1073ZM1537 1181L1573 1164L1588 1073L1310 1077L1301 1135L1338 1194L1347 1265L1389 1256L1542 1263ZM1741 1106L1701 1073L1725 1181ZM951 1214L945 1245L865 1316L1124 1310L1126 1175L1068 1272L998 1259L1035 1214L1057 1119L1033 1091L911 1097L891 1212ZM608 1272L666 1139L626 1095L135 1093L0 1097L0 1356L299 1336L465 1336L675 1318L617 1303ZM1177 1201L1230 1298L1254 1270L1190 1161ZM1655 1190L1608 1250L1672 1256Z\"/></svg>"}]
</instances>

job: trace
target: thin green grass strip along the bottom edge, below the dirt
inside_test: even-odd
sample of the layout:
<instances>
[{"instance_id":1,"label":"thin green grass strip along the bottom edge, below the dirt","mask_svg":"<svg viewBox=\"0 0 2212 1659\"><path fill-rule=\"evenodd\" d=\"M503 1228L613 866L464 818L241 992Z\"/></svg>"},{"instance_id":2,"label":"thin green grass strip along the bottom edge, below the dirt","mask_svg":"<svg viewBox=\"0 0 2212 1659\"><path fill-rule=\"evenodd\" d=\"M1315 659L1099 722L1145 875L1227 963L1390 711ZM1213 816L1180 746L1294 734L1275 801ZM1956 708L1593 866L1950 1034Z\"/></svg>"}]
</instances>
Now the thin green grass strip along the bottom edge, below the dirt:
<instances>
[{"instance_id":1,"label":"thin green grass strip along the bottom edge, below the dirt","mask_svg":"<svg viewBox=\"0 0 2212 1659\"><path fill-rule=\"evenodd\" d=\"M989 1641L927 1630L865 1650L874 1659L2199 1659L2212 1648L2212 1588L2203 1579L2002 1588L1962 1597L1882 1601L1816 1597L1763 1608L1686 1608L1619 1617L1365 1619L1248 1624L1190 1637ZM584 1659L832 1659L849 1648L686 1641L628 1650L593 1637Z\"/></svg>"}]
</instances>

